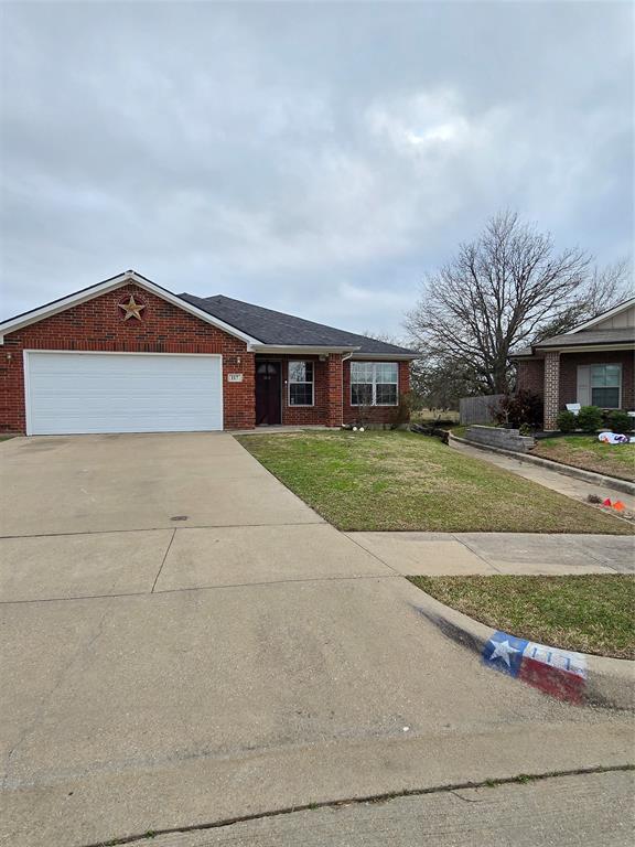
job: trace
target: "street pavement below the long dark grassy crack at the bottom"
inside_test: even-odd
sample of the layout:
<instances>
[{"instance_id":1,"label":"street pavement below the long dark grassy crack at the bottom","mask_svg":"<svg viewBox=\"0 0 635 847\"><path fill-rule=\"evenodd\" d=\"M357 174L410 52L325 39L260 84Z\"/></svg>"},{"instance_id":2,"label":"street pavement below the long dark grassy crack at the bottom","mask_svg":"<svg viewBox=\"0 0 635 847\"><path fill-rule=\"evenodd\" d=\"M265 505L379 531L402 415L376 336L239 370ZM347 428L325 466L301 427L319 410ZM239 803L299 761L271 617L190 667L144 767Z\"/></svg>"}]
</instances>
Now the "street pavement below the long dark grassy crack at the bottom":
<instances>
[{"instance_id":1,"label":"street pavement below the long dark grassy crack at the bottom","mask_svg":"<svg viewBox=\"0 0 635 847\"><path fill-rule=\"evenodd\" d=\"M631 847L634 789L632 772L577 773L289 812L158 835L152 846Z\"/></svg>"}]
</instances>

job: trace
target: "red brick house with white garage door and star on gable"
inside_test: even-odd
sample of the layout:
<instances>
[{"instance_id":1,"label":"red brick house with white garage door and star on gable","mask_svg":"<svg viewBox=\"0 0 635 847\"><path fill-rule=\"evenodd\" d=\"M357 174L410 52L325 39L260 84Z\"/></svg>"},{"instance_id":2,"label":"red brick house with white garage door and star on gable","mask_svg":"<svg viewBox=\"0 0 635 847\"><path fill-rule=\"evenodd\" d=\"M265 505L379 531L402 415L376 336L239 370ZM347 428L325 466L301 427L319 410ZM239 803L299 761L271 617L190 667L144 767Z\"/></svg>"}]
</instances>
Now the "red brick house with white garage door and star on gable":
<instances>
[{"instance_id":1,"label":"red brick house with white garage door and star on gable","mask_svg":"<svg viewBox=\"0 0 635 847\"><path fill-rule=\"evenodd\" d=\"M127 271L0 323L0 431L249 429L394 419L416 354Z\"/></svg>"}]
</instances>

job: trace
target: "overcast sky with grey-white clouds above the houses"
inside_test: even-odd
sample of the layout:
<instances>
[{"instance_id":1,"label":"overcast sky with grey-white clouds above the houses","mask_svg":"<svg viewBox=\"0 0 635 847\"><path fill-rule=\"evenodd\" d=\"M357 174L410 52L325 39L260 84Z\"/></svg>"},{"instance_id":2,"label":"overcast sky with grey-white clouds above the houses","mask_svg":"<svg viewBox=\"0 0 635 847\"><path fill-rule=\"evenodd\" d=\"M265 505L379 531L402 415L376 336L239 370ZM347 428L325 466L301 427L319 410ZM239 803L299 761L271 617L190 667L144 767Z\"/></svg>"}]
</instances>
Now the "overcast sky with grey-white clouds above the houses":
<instances>
[{"instance_id":1,"label":"overcast sky with grey-white clouds above the houses","mask_svg":"<svg viewBox=\"0 0 635 847\"><path fill-rule=\"evenodd\" d=\"M2 318L134 268L399 334L503 207L632 253L628 2L1 12Z\"/></svg>"}]
</instances>

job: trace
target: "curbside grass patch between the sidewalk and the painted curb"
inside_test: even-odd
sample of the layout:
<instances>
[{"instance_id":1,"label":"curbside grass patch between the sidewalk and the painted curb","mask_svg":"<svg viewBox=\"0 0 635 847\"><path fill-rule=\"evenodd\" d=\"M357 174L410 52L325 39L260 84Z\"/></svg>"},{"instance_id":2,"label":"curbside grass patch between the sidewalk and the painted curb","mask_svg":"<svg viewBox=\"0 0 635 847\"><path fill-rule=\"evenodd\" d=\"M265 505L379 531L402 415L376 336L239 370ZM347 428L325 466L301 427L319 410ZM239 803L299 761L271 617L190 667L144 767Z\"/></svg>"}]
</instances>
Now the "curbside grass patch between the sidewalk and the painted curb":
<instances>
[{"instance_id":1,"label":"curbside grass patch between the sidewalk and the painted curb","mask_svg":"<svg viewBox=\"0 0 635 847\"><path fill-rule=\"evenodd\" d=\"M408 577L488 626L582 653L635 658L635 577Z\"/></svg>"}]
</instances>

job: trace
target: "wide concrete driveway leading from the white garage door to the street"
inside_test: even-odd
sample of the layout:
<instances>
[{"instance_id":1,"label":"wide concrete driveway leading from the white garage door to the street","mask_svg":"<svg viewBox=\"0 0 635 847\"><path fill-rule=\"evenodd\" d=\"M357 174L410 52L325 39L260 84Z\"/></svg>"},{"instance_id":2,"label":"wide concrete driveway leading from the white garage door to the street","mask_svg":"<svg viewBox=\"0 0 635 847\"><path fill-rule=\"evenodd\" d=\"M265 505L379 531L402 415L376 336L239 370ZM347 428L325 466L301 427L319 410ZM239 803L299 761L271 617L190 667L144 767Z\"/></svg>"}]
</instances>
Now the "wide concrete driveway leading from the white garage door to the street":
<instances>
[{"instance_id":1,"label":"wide concrete driveway leading from the white garage door to the street","mask_svg":"<svg viewBox=\"0 0 635 847\"><path fill-rule=\"evenodd\" d=\"M631 758L627 719L482 667L229 436L0 460L2 844Z\"/></svg>"}]
</instances>

